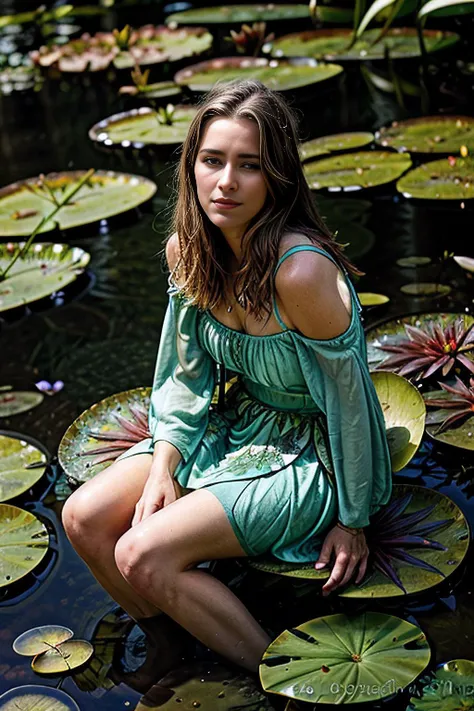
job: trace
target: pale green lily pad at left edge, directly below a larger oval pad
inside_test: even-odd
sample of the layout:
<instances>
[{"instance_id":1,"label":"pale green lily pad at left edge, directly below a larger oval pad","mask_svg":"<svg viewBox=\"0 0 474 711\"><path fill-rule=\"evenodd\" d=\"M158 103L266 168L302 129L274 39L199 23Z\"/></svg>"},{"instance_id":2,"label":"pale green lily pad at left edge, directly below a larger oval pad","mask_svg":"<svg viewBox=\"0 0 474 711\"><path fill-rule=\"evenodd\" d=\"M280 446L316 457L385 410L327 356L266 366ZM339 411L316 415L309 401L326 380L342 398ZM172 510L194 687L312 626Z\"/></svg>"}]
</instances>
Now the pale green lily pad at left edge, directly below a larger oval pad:
<instances>
[{"instance_id":1,"label":"pale green lily pad at left edge, directly below a larger oval pad","mask_svg":"<svg viewBox=\"0 0 474 711\"><path fill-rule=\"evenodd\" d=\"M0 245L0 272L24 246L24 242ZM32 244L24 256L17 259L6 279L0 281L0 313L60 291L82 274L89 260L90 254L80 247L46 242Z\"/></svg>"}]
</instances>

